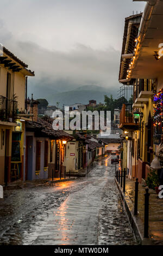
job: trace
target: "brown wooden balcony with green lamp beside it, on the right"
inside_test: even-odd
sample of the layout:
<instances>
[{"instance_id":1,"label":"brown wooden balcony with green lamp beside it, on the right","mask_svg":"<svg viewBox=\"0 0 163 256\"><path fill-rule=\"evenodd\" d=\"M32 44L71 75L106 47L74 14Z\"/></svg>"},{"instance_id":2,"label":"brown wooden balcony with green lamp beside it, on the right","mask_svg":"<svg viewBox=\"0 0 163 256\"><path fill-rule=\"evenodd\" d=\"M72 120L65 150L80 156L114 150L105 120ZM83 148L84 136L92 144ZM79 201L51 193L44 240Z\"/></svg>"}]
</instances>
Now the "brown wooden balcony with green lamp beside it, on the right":
<instances>
[{"instance_id":1,"label":"brown wooden balcony with green lamp beside it, on the right","mask_svg":"<svg viewBox=\"0 0 163 256\"><path fill-rule=\"evenodd\" d=\"M132 104L123 104L120 114L120 128L122 130L137 130L138 127L134 122Z\"/></svg>"}]
</instances>

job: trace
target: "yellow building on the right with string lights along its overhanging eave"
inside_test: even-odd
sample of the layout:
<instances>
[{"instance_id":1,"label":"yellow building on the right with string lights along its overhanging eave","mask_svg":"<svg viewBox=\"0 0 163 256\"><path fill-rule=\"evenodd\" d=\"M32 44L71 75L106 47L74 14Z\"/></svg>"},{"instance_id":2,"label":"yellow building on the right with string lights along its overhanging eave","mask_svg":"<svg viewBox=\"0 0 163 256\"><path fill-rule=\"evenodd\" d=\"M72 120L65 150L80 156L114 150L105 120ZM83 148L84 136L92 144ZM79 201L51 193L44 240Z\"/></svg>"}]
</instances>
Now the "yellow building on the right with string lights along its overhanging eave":
<instances>
[{"instance_id":1,"label":"yellow building on the right with string lights along its overhanging eave","mask_svg":"<svg viewBox=\"0 0 163 256\"><path fill-rule=\"evenodd\" d=\"M139 182L147 178L161 142L162 14L161 1L148 1L143 14L126 19L124 29L119 81L133 85L133 105L124 104L120 117L123 168Z\"/></svg>"}]
</instances>

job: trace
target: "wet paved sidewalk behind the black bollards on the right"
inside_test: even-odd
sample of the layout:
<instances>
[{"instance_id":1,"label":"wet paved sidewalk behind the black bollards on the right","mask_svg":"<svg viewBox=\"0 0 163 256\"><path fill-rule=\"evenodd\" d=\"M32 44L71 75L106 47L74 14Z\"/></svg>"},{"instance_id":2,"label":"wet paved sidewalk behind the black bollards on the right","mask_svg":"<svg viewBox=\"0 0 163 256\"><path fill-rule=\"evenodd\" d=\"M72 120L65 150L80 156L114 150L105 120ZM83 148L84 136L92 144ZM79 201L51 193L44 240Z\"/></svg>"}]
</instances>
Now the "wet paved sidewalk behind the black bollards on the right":
<instances>
[{"instance_id":1,"label":"wet paved sidewalk behind the black bollards on the right","mask_svg":"<svg viewBox=\"0 0 163 256\"><path fill-rule=\"evenodd\" d=\"M134 216L134 200L135 200L135 182L126 179L126 193L122 192L120 184L117 184L121 194L124 207L127 212L131 225L135 222L135 228L139 232L141 242L144 244L151 243L153 245L163 245L163 199L159 199L155 190L149 189L149 239L143 238L143 221L145 208L145 186L139 184L138 195L138 215ZM136 227L137 226L137 227ZM135 231L135 230L134 230Z\"/></svg>"}]
</instances>

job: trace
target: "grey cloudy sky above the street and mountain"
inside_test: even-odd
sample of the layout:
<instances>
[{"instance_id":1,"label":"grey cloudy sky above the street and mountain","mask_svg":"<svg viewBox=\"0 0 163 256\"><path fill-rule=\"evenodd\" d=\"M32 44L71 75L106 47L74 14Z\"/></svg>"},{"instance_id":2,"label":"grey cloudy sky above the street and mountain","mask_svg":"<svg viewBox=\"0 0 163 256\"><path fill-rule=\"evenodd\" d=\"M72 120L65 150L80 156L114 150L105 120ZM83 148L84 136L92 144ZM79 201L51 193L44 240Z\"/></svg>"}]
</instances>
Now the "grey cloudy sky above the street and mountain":
<instances>
[{"instance_id":1,"label":"grey cloudy sky above the street and mountain","mask_svg":"<svg viewBox=\"0 0 163 256\"><path fill-rule=\"evenodd\" d=\"M98 85L118 90L124 18L143 11L132 0L0 0L5 47L35 71L28 93ZM115 93L116 91L115 90Z\"/></svg>"}]
</instances>

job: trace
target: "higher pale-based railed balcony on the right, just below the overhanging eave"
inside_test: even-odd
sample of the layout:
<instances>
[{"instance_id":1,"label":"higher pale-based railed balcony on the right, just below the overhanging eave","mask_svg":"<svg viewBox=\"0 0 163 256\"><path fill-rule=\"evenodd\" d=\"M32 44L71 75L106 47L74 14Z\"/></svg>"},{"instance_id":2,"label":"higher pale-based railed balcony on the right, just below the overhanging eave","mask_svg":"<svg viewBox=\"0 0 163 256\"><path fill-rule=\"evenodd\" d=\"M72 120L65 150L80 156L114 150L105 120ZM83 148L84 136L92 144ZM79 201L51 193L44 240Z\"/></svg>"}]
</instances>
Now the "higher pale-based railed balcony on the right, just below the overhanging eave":
<instances>
[{"instance_id":1,"label":"higher pale-based railed balcony on the right, just below the overhanging eave","mask_svg":"<svg viewBox=\"0 0 163 256\"><path fill-rule=\"evenodd\" d=\"M143 108L144 104L147 104L149 98L153 96L153 89L154 86L151 79L140 79L134 92L133 108Z\"/></svg>"}]
</instances>

